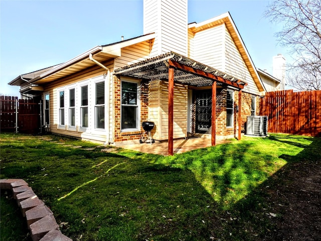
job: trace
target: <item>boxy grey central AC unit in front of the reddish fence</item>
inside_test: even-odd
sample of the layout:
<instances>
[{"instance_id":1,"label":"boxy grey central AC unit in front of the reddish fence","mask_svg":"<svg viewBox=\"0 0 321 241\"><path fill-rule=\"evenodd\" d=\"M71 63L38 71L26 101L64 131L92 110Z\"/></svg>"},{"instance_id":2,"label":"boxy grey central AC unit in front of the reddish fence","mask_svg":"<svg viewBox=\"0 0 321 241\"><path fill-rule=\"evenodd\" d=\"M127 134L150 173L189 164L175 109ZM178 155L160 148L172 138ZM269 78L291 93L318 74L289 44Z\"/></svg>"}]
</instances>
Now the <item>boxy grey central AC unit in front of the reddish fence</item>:
<instances>
[{"instance_id":1,"label":"boxy grey central AC unit in front of the reddish fence","mask_svg":"<svg viewBox=\"0 0 321 241\"><path fill-rule=\"evenodd\" d=\"M267 116L250 115L247 116L246 134L250 136L267 136Z\"/></svg>"}]
</instances>

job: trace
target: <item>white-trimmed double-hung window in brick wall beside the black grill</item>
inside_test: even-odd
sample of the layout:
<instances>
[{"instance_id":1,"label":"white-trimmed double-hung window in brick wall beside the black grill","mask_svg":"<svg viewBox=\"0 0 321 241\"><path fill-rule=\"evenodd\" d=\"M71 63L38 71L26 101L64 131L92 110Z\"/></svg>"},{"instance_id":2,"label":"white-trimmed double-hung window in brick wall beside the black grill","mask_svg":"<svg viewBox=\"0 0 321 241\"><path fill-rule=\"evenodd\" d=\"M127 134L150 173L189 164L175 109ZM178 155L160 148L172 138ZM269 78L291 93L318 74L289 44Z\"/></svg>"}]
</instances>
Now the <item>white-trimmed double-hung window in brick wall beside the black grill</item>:
<instances>
[{"instance_id":1,"label":"white-trimmed double-hung window in brick wall beside the black grill","mask_svg":"<svg viewBox=\"0 0 321 241\"><path fill-rule=\"evenodd\" d=\"M139 130L139 81L121 81L121 130Z\"/></svg>"}]
</instances>

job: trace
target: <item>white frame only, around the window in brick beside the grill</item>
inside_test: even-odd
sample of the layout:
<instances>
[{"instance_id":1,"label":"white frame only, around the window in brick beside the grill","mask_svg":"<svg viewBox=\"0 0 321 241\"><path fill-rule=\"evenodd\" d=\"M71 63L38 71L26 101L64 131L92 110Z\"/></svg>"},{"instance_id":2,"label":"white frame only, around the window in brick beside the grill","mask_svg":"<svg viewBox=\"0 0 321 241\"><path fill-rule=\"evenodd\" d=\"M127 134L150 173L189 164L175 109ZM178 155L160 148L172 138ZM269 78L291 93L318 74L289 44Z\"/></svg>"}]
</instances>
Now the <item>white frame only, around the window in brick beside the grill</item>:
<instances>
[{"instance_id":1,"label":"white frame only, around the window in brick beside the grill","mask_svg":"<svg viewBox=\"0 0 321 241\"><path fill-rule=\"evenodd\" d=\"M137 101L135 105L132 104L123 104L122 103L122 83L130 82L137 84ZM123 106L136 106L136 127L135 128L123 128L122 127L122 107ZM121 132L135 132L140 131L140 80L138 79L128 79L121 78L120 79L120 130Z\"/></svg>"}]
</instances>

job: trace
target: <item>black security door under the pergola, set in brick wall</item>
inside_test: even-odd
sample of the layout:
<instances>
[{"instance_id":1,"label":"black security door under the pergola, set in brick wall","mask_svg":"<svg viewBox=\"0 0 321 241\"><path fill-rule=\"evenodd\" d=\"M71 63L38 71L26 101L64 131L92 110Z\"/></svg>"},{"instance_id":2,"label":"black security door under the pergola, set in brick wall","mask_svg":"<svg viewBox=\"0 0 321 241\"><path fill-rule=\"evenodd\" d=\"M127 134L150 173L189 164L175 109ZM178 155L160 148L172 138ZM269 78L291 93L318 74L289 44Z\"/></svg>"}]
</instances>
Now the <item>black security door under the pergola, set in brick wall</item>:
<instances>
[{"instance_id":1,"label":"black security door under the pergola, set in brick wall","mask_svg":"<svg viewBox=\"0 0 321 241\"><path fill-rule=\"evenodd\" d=\"M212 92L211 90L195 91L195 128L196 133L205 133L211 127Z\"/></svg>"}]
</instances>

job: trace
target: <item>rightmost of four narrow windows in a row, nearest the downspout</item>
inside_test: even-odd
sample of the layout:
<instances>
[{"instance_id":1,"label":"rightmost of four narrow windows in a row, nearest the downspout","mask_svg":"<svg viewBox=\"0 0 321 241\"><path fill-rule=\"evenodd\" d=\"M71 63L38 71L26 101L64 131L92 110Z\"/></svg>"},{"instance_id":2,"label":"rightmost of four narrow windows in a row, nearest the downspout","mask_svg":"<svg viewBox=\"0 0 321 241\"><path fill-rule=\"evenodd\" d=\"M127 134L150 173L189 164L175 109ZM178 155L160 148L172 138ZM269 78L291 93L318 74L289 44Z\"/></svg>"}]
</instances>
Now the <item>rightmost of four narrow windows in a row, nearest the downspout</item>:
<instances>
[{"instance_id":1,"label":"rightmost of four narrow windows in a row, nearest the downspout","mask_svg":"<svg viewBox=\"0 0 321 241\"><path fill-rule=\"evenodd\" d=\"M105 82L95 84L95 128L105 128Z\"/></svg>"}]
</instances>

